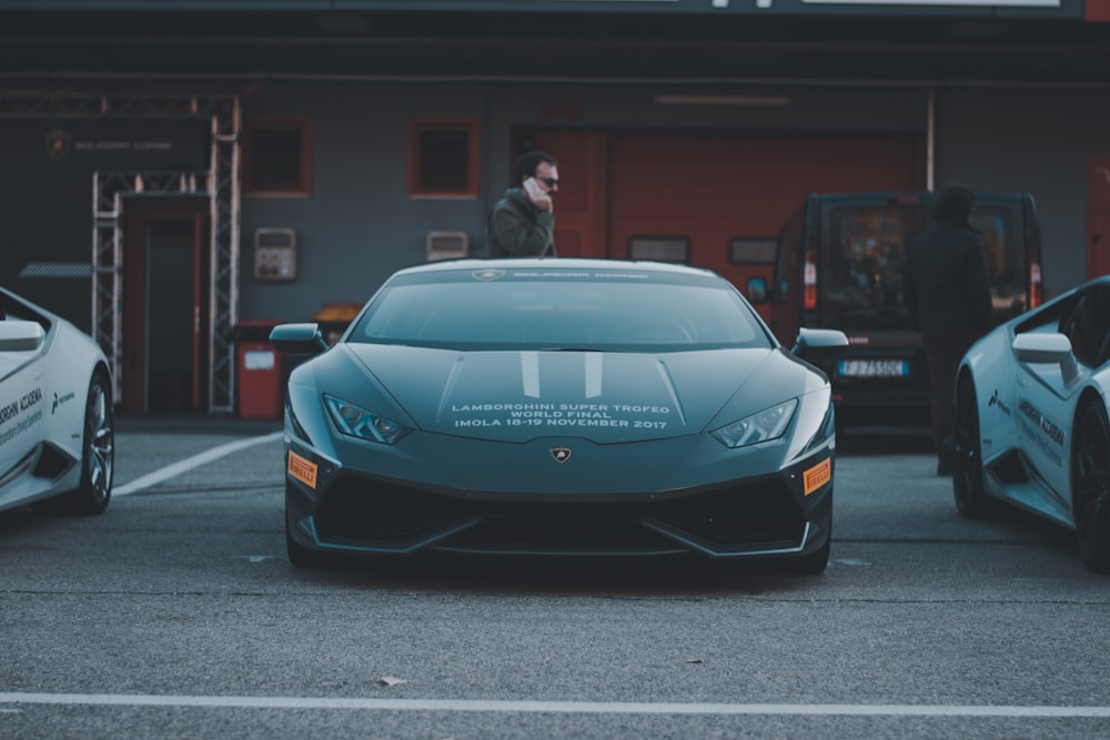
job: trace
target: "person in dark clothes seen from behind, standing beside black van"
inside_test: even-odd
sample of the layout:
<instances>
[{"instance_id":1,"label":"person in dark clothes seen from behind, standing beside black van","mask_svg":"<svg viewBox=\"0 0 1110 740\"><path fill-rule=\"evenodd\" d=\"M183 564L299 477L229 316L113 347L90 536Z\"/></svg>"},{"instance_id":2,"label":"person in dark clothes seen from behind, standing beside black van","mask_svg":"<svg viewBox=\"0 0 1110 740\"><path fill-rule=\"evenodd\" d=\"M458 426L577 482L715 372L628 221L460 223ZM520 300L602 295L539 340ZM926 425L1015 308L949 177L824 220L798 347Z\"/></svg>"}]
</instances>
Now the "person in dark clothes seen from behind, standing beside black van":
<instances>
[{"instance_id":1,"label":"person in dark clothes seen from behind, standing beside black van","mask_svg":"<svg viewBox=\"0 0 1110 740\"><path fill-rule=\"evenodd\" d=\"M993 324L987 246L971 226L975 193L951 185L940 191L936 222L908 247L904 295L921 333L932 392L932 443L937 475L951 475L956 369L971 345Z\"/></svg>"}]
</instances>

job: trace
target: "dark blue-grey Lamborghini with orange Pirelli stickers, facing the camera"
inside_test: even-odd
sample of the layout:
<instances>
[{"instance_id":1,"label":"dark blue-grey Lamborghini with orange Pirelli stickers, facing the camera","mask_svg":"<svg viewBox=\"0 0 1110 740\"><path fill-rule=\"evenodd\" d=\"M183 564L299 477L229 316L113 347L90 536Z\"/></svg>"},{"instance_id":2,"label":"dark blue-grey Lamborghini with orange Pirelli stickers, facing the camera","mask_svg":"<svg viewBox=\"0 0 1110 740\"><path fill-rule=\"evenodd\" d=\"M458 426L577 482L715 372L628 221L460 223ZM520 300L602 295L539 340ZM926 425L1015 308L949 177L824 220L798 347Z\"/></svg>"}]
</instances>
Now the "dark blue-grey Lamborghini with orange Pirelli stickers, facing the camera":
<instances>
[{"instance_id":1,"label":"dark blue-grey Lamborghini with orange Pirelli stickers, facing the camera","mask_svg":"<svg viewBox=\"0 0 1110 740\"><path fill-rule=\"evenodd\" d=\"M828 562L829 381L706 270L402 270L329 346L285 324L290 560L422 550Z\"/></svg>"}]
</instances>

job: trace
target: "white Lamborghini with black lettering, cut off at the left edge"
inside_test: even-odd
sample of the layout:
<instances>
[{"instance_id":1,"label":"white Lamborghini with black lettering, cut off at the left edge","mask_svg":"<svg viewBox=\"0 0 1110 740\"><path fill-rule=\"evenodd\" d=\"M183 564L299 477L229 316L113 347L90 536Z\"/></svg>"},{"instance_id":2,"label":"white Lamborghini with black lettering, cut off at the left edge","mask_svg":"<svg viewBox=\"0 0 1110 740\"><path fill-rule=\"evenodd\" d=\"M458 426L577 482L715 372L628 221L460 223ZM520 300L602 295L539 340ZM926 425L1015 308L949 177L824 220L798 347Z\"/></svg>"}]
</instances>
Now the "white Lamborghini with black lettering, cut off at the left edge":
<instances>
[{"instance_id":1,"label":"white Lamborghini with black lettering, cut off at the left edge","mask_svg":"<svg viewBox=\"0 0 1110 740\"><path fill-rule=\"evenodd\" d=\"M112 382L100 347L0 288L0 510L100 514L113 463Z\"/></svg>"}]
</instances>

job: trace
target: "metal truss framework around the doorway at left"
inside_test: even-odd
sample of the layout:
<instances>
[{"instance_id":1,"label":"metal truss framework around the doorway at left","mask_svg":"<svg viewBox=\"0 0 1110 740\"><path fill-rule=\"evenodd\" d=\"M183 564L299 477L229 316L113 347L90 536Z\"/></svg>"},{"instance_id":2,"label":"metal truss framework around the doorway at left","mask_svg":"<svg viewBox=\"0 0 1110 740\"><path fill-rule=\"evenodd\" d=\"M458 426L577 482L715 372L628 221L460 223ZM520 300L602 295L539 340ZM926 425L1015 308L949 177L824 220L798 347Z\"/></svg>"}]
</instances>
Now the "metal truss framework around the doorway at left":
<instances>
[{"instance_id":1,"label":"metal truss framework around the doorway at left","mask_svg":"<svg viewBox=\"0 0 1110 740\"><path fill-rule=\"evenodd\" d=\"M209 410L235 402L234 326L239 321L240 103L232 94L81 94L0 91L0 118L209 119L209 171L101 171L92 178L92 335L103 348L121 397L123 376L123 207L130 197L202 195L211 222Z\"/></svg>"}]
</instances>

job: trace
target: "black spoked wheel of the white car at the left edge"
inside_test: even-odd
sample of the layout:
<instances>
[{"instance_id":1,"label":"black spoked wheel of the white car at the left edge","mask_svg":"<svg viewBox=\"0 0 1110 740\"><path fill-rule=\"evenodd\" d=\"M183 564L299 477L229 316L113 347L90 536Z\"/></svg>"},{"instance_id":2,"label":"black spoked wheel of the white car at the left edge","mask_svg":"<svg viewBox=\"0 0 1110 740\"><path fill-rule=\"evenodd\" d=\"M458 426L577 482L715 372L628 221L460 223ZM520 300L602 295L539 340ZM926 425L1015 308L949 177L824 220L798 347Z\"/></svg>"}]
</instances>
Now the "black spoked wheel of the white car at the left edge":
<instances>
[{"instance_id":1,"label":"black spoked wheel of the white car at the left edge","mask_svg":"<svg viewBox=\"0 0 1110 740\"><path fill-rule=\"evenodd\" d=\"M93 516L108 508L115 469L115 432L112 391L108 377L97 373L89 383L81 443L81 483L73 490L34 504L31 508L58 516Z\"/></svg>"}]
</instances>

